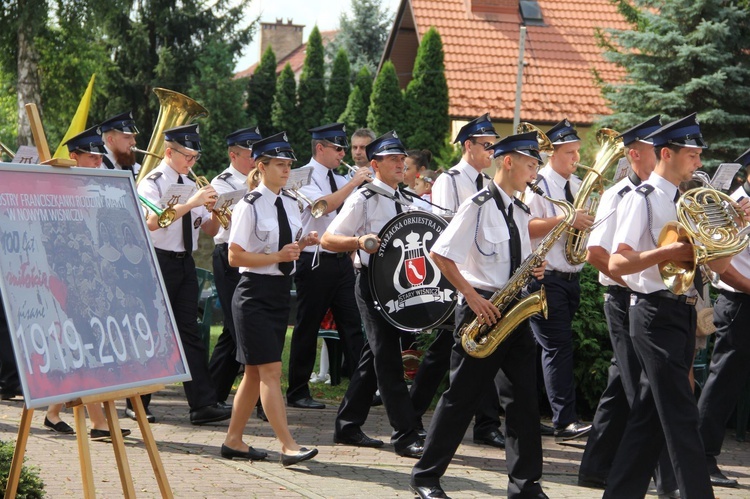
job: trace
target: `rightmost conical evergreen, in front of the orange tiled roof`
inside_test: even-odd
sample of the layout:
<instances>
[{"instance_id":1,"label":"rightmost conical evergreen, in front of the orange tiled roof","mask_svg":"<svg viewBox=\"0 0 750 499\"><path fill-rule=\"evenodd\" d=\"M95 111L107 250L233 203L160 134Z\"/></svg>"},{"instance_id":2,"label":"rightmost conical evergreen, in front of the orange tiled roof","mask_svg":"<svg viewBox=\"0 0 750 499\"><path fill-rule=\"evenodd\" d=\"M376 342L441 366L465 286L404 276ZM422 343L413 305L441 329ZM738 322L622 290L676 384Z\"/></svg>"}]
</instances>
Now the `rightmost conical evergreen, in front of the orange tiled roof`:
<instances>
[{"instance_id":1,"label":"rightmost conical evergreen, in front of the orange tiled roof","mask_svg":"<svg viewBox=\"0 0 750 499\"><path fill-rule=\"evenodd\" d=\"M443 42L432 27L424 34L406 87L406 119L402 134L409 147L429 149L435 155L450 132L448 84L445 81Z\"/></svg>"}]
</instances>

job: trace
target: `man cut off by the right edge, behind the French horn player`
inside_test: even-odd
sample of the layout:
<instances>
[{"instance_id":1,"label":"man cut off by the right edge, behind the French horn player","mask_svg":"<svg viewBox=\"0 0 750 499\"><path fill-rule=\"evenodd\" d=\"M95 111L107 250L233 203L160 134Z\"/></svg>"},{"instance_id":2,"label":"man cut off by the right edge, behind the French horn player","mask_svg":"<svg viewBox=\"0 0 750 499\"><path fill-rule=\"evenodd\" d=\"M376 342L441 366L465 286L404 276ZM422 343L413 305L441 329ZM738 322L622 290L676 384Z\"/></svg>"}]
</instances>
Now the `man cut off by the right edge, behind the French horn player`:
<instances>
[{"instance_id":1,"label":"man cut off by the right edge, behind the French horn player","mask_svg":"<svg viewBox=\"0 0 750 499\"><path fill-rule=\"evenodd\" d=\"M750 149L735 160L747 168ZM732 193L732 199L750 197L746 180ZM698 400L700 434L706 450L706 465L711 483L718 487L736 487L737 480L727 478L716 458L721 454L726 423L750 372L750 250L737 254L721 281L716 285L719 297L714 304L716 340L711 354L711 368Z\"/></svg>"}]
</instances>

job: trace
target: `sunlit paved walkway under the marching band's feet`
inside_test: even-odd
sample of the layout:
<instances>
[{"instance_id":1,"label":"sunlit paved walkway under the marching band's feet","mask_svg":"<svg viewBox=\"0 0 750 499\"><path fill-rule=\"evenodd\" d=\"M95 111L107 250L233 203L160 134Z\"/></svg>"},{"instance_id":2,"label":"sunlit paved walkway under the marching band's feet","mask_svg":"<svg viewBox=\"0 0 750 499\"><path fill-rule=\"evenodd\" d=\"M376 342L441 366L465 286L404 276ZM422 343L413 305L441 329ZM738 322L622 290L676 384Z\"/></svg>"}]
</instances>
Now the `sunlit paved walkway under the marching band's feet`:
<instances>
[{"instance_id":1,"label":"sunlit paved walkway under the marching band's feet","mask_svg":"<svg viewBox=\"0 0 750 499\"><path fill-rule=\"evenodd\" d=\"M118 403L124 408L124 402ZM250 420L245 434L255 448L269 451L265 462L229 461L219 457L227 424L202 427L190 425L182 389L168 387L154 396L152 412L158 422L152 425L170 486L178 498L411 498L409 473L413 460L401 458L386 445L364 449L333 444L335 408L320 411L289 409L292 434L305 446L317 446L320 454L304 465L284 469L278 462L279 445L268 423ZM0 404L0 439L15 440L21 417L19 402ZM72 411L63 414L70 424ZM42 426L44 411L34 413L27 464L40 469L48 497L82 497L80 468L75 437L59 436ZM427 423L427 421L425 421ZM159 489L134 421L121 425L133 433L126 448L136 494L158 497ZM388 441L390 431L382 407L373 408L364 428L373 437ZM722 454L725 472L740 480L739 489L717 489L721 499L750 497L750 443L737 443L728 432ZM543 487L551 498L598 498L601 491L575 485L583 446L558 445L543 438ZM121 497L111 445L91 442L94 482L98 497ZM505 497L504 451L471 442L471 431L458 449L443 487L454 498ZM655 497L653 489L649 497Z\"/></svg>"}]
</instances>

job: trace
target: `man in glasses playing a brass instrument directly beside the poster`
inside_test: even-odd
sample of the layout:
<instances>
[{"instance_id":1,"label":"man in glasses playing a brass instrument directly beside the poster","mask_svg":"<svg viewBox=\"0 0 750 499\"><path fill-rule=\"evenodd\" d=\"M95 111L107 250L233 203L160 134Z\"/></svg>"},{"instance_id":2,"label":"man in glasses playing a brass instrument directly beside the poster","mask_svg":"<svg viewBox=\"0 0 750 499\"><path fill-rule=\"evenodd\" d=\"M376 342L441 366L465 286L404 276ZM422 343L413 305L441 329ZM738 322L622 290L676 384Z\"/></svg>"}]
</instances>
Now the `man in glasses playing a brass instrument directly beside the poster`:
<instances>
[{"instance_id":1,"label":"man in glasses playing a brass instrument directly beside the poster","mask_svg":"<svg viewBox=\"0 0 750 499\"><path fill-rule=\"evenodd\" d=\"M166 130L164 142L164 159L138 184L138 193L154 204L159 203L171 184L194 184L187 175L200 157L198 125ZM147 219L185 359L193 378L183 387L190 406L190 422L195 425L223 421L231 416L231 407L220 404L216 397L208 371L206 347L198 332L198 278L192 255L198 244L199 229L209 236L215 236L219 230L218 218L206 208L206 205L212 208L215 201L216 190L207 185L198 189L184 204L173 207L175 219L168 227L160 228L159 217L153 212L149 213ZM144 395L143 398L148 415L150 397ZM128 406L128 409L126 414L134 418L132 407Z\"/></svg>"}]
</instances>

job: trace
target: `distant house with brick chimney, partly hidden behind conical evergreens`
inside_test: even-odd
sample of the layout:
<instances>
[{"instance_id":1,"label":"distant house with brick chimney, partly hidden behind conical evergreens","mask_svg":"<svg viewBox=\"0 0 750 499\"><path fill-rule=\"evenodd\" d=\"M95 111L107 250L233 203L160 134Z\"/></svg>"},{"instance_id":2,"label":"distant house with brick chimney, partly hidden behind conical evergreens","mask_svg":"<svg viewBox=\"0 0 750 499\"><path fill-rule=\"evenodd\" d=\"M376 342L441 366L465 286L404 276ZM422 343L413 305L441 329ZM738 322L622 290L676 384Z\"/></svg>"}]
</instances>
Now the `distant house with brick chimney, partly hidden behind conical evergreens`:
<instances>
[{"instance_id":1,"label":"distant house with brick chimney, partly hidden behind conical evergreens","mask_svg":"<svg viewBox=\"0 0 750 499\"><path fill-rule=\"evenodd\" d=\"M302 74L302 67L305 64L307 55L307 43L302 42L302 32L305 26L303 24L294 24L291 19L284 23L282 19L276 19L275 23L260 23L260 57L266 51L268 46L273 48L276 54L276 74L284 70L284 66L289 63L294 71L294 77L299 81ZM323 40L323 47L336 38L338 31L321 31L320 37ZM235 73L234 79L249 78L255 73L258 67L256 62L247 69Z\"/></svg>"}]
</instances>

